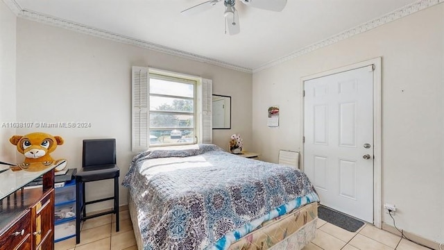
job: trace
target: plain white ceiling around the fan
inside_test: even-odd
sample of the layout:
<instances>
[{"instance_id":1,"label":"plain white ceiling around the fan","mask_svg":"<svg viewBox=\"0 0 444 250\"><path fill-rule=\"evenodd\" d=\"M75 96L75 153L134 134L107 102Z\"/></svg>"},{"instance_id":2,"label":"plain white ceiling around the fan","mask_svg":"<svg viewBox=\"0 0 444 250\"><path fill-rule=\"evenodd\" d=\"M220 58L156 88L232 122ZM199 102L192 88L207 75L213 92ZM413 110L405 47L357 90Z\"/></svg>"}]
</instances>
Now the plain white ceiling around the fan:
<instances>
[{"instance_id":1,"label":"plain white ceiling around the fan","mask_svg":"<svg viewBox=\"0 0 444 250\"><path fill-rule=\"evenodd\" d=\"M191 16L180 11L207 0L15 1L24 10L251 70L416 2L288 0L282 12L271 12L237 1L241 33L225 35L223 1Z\"/></svg>"}]
</instances>

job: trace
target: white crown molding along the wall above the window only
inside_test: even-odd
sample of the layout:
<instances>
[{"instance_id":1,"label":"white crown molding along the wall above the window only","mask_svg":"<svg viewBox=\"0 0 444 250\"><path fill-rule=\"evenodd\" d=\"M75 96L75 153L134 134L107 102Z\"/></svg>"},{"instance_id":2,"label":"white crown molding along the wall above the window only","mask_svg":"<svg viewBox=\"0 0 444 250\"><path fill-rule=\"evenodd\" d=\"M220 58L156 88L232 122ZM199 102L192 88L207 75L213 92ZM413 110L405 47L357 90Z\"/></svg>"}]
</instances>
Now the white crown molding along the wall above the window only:
<instances>
[{"instance_id":1,"label":"white crown molding along the wall above the window only","mask_svg":"<svg viewBox=\"0 0 444 250\"><path fill-rule=\"evenodd\" d=\"M15 0L3 0L6 5L12 10L12 12L17 15L17 17L22 17L24 19L30 19L35 22L41 22L44 24L49 24L52 26L58 26L61 28L66 28L71 31L76 31L80 33L85 33L87 35L93 35L98 38L104 38L108 40L112 40L114 42L122 42L125 44L130 44L137 47L142 47L144 49L150 49L152 51L167 53L172 56L180 56L182 58L187 58L190 60L195 60L202 63L208 63L211 65L216 65L220 67L225 67L227 69L237 70L239 72L253 73L253 69L247 67L241 67L238 65L232 65L230 63L225 63L221 60L215 60L213 58L207 58L205 56L199 56L194 53L189 53L186 51L181 51L178 49L172 49L169 47L162 46L160 44L154 44L151 42L146 42L144 40L139 40L136 38L130 38L126 35L120 35L117 33L113 33L110 31L105 31L99 28L94 28L92 26L87 26L84 24L78 24L76 22L71 22L69 20L60 19L58 17L53 17L51 15L46 15L40 12L35 12L33 10L24 9Z\"/></svg>"}]
</instances>

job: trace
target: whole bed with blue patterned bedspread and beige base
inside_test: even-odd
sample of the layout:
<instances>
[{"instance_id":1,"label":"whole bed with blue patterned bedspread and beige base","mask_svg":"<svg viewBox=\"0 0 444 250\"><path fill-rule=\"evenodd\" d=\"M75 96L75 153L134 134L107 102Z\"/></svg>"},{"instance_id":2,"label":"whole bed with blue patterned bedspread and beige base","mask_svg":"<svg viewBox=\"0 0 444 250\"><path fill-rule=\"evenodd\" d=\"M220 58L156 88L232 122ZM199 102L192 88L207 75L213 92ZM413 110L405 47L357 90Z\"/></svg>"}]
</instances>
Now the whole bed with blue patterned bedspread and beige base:
<instances>
[{"instance_id":1,"label":"whole bed with blue patterned bedspread and beige base","mask_svg":"<svg viewBox=\"0 0 444 250\"><path fill-rule=\"evenodd\" d=\"M315 236L305 174L213 144L139 153L122 184L138 249L293 250Z\"/></svg>"}]
</instances>

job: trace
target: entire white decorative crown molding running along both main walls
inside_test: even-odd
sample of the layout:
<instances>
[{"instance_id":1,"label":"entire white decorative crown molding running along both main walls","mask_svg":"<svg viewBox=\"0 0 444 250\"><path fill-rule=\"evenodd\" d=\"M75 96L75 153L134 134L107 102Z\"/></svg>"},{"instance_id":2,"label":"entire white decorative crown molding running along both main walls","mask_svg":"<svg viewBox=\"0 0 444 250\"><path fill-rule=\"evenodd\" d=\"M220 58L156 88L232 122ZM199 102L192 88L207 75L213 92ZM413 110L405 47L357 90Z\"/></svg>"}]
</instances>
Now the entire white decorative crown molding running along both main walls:
<instances>
[{"instance_id":1,"label":"entire white decorative crown molding running along both main walls","mask_svg":"<svg viewBox=\"0 0 444 250\"><path fill-rule=\"evenodd\" d=\"M444 3L444 0L418 0L415 3L411 3L407 6L399 8L398 10L394 10L392 12L389 12L388 14L383 15L382 17L377 17L373 20L370 20L369 22L366 22L364 24L360 24L358 26L355 26L354 28L350 28L347 31L343 31L341 33L333 35L330 38L327 38L325 40L321 40L319 42L311 44L311 45L304 47L302 49L299 49L297 51L293 51L292 53L289 53L289 55L287 55L287 56L283 56L281 58L271 60L270 62L265 63L264 65L261 65L255 69L241 67L238 65L232 65L230 63L225 63L221 60L215 60L213 58L199 56L194 53L189 53L186 51L180 51L178 49L172 49L169 47L165 47L160 44L154 44L151 42L146 42L144 40L130 38L125 35L119 35L117 33L112 33L110 31L101 30L99 28L94 28L91 26L78 24L76 22L71 22L68 20L60 19L58 17L52 17L50 15L35 12L33 10L26 10L26 9L23 9L21 6L19 6L17 1L15 1L15 0L3 0L3 2L6 3L6 6L8 6L8 8L10 8L10 10L12 12L14 12L15 15L17 15L17 17L22 17L24 19L31 19L35 22L42 22L44 24L50 24L52 26L67 28L71 31L77 31L80 33L88 34L88 35L94 35L96 37L112 40L115 42L122 42L125 44L130 44L133 46L142 47L144 49L150 49L150 50L157 51L157 52L167 53L167 54L173 55L173 56L180 56L182 58L196 60L198 62L209 63L211 65L216 65L216 66L225 67L228 69L237 70L239 72L246 72L246 73L252 74L252 73L260 72L264 69L268 69L269 67L280 65L280 64L285 63L285 62L292 60L294 58L298 58L298 57L305 55L306 53L309 53L311 51L314 51L316 49L321 49L321 48L326 47L330 44L334 44L334 43L339 42L341 40L351 38L352 36L359 35L360 33L364 33L366 31L369 31L369 30L376 28L378 26L387 24L388 22L393 22L397 19L400 19L401 17L405 17L407 15L411 15L415 12L420 11L420 10L424 10L425 8L435 6L439 3Z\"/></svg>"}]
</instances>

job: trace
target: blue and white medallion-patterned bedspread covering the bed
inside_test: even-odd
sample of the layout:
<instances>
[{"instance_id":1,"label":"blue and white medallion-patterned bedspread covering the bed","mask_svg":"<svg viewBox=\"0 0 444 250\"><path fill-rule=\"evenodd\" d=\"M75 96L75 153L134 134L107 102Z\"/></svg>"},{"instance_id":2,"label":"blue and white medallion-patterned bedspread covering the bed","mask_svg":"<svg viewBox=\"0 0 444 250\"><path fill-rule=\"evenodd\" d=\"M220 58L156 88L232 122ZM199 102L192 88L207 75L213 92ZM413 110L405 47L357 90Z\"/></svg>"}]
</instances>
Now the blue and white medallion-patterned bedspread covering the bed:
<instances>
[{"instance_id":1,"label":"blue and white medallion-patterned bedspread covering the bed","mask_svg":"<svg viewBox=\"0 0 444 250\"><path fill-rule=\"evenodd\" d=\"M214 248L225 234L290 201L318 201L298 169L234 156L213 144L195 146L133 158L122 184L139 209L144 249Z\"/></svg>"}]
</instances>

